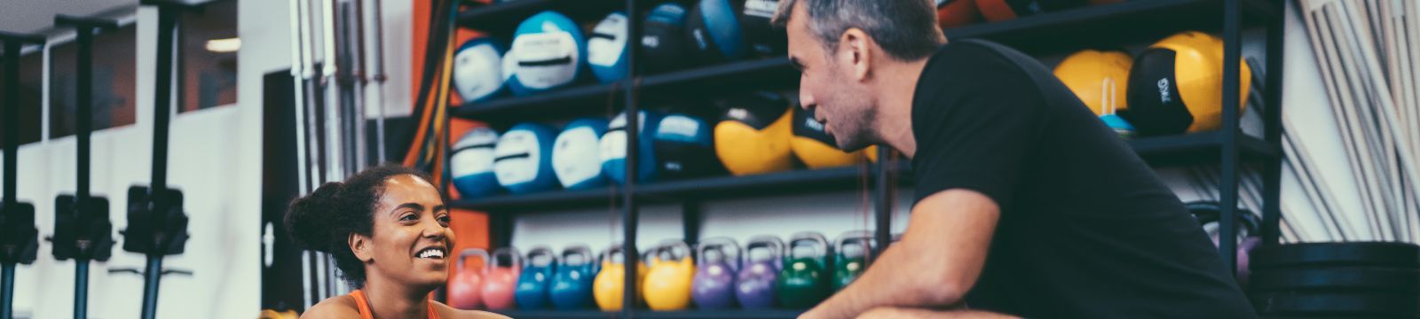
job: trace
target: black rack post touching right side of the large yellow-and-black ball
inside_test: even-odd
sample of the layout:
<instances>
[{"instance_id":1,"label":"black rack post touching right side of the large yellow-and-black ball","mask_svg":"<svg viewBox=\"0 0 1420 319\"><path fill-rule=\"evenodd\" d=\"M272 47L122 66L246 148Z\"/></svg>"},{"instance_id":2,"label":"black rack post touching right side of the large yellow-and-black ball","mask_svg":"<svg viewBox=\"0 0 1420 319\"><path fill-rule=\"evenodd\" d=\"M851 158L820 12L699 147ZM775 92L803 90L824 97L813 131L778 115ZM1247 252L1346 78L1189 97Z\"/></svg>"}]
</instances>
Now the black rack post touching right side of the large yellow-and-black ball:
<instances>
[{"instance_id":1,"label":"black rack post touching right side of the large yellow-and-black ball","mask_svg":"<svg viewBox=\"0 0 1420 319\"><path fill-rule=\"evenodd\" d=\"M1241 0L1227 0L1223 7L1223 169L1218 201L1223 211L1218 223L1218 255L1228 272L1237 272L1237 206L1238 206L1238 84L1241 75Z\"/></svg>"}]
</instances>

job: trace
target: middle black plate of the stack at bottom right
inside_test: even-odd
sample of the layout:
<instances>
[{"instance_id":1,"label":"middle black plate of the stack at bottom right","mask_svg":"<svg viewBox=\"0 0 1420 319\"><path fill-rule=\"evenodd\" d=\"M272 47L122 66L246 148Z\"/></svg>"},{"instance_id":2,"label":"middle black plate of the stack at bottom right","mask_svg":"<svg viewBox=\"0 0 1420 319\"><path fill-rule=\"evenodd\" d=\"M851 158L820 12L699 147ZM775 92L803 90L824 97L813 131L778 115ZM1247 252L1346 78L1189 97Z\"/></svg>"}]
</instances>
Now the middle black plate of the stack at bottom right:
<instances>
[{"instance_id":1,"label":"middle black plate of the stack at bottom right","mask_svg":"<svg viewBox=\"0 0 1420 319\"><path fill-rule=\"evenodd\" d=\"M1420 269L1345 267L1269 269L1252 272L1252 292L1275 291L1363 291L1411 295L1420 292Z\"/></svg>"}]
</instances>

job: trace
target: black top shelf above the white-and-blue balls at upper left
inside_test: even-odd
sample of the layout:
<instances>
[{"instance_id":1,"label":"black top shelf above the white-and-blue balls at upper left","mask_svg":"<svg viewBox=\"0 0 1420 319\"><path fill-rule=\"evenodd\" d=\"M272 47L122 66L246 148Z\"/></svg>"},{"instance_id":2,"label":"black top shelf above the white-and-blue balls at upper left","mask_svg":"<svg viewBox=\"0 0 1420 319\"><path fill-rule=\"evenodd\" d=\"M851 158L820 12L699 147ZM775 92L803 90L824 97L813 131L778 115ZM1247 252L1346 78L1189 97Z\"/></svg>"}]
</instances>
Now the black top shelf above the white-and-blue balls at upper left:
<instances>
[{"instance_id":1,"label":"black top shelf above the white-and-blue balls at upper left","mask_svg":"<svg viewBox=\"0 0 1420 319\"><path fill-rule=\"evenodd\" d=\"M622 0L513 0L494 4L476 1L466 3L466 9L459 13L459 26L493 34L513 34L513 30L518 27L518 23L523 23L524 18L544 10L555 10L562 14L569 14L574 21L585 21L588 18L599 18L599 16L611 13L612 10L625 10L626 6L626 1Z\"/></svg>"}]
</instances>

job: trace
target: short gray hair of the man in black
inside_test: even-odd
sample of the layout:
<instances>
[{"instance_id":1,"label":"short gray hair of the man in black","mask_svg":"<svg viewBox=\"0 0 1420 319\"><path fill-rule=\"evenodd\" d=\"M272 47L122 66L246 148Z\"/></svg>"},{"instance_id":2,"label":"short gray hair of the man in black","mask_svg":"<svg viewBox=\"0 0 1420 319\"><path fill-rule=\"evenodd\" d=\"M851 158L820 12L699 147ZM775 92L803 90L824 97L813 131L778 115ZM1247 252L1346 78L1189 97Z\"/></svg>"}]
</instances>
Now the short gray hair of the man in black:
<instances>
[{"instance_id":1,"label":"short gray hair of the man in black","mask_svg":"<svg viewBox=\"0 0 1420 319\"><path fill-rule=\"evenodd\" d=\"M774 26L788 26L794 4L804 3L808 28L826 50L849 28L859 28L900 61L930 57L941 45L933 0L780 0Z\"/></svg>"}]
</instances>

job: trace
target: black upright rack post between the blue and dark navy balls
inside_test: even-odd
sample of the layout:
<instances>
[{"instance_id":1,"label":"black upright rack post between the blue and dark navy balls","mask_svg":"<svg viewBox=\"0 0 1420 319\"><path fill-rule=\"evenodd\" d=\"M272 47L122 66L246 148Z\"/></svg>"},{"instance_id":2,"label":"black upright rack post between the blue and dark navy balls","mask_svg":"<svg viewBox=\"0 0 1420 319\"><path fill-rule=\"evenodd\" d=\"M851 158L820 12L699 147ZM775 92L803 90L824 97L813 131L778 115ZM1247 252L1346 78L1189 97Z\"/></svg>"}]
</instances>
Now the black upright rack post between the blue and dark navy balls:
<instances>
[{"instance_id":1,"label":"black upright rack post between the blue and dark navy balls","mask_svg":"<svg viewBox=\"0 0 1420 319\"><path fill-rule=\"evenodd\" d=\"M629 17L636 16L636 0L626 0L626 13ZM626 18L626 38L640 38L640 27L636 18ZM629 85L625 88L626 94L626 187L622 189L622 250L623 262L626 267L626 276L622 282L622 318L632 318L633 308L636 308L636 291L640 286L636 285L636 265L640 262L640 251L636 250L636 225L640 221L640 211L638 211L636 203L636 179L638 166L636 162L640 159L640 111L636 105L636 86L640 81L636 79L638 67L636 57L640 51L640 45L630 44L626 45L626 81Z\"/></svg>"}]
</instances>

